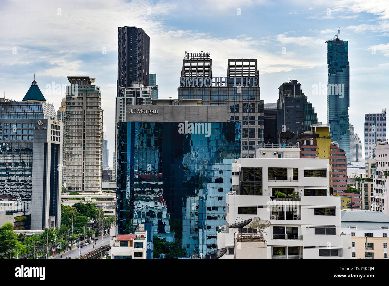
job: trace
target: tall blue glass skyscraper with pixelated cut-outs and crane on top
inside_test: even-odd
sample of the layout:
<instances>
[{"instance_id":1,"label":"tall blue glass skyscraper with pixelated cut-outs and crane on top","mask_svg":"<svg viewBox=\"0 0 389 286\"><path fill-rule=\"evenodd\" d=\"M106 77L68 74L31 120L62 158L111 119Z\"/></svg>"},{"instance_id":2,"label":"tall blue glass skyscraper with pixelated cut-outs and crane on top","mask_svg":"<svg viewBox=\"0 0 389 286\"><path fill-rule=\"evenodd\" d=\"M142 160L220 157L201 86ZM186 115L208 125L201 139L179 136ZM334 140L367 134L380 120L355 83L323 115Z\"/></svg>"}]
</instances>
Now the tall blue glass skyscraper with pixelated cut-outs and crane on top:
<instances>
[{"instance_id":1,"label":"tall blue glass skyscraper with pixelated cut-outs and crane on top","mask_svg":"<svg viewBox=\"0 0 389 286\"><path fill-rule=\"evenodd\" d=\"M342 41L338 35L327 43L327 124L331 140L349 156L350 130L350 66L348 60L349 42Z\"/></svg>"}]
</instances>

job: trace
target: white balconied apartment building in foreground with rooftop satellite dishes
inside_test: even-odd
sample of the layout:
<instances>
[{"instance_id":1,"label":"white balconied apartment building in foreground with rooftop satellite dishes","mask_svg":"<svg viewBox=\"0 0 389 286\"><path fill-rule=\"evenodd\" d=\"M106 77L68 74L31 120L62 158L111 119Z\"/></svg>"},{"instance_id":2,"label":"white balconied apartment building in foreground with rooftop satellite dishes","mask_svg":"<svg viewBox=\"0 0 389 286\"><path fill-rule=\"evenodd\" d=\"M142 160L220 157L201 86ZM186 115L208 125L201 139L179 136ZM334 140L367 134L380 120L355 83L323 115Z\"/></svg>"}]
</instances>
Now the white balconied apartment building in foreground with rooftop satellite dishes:
<instances>
[{"instance_id":1,"label":"white balconied apartment building in foreground with rooftop satellite dishes","mask_svg":"<svg viewBox=\"0 0 389 286\"><path fill-rule=\"evenodd\" d=\"M273 146L232 166L226 225L217 233L217 248L227 248L222 258L351 258L350 235L341 231L340 197L330 194L329 160L301 159L291 143ZM263 241L257 230L228 227L251 218L270 221Z\"/></svg>"}]
</instances>

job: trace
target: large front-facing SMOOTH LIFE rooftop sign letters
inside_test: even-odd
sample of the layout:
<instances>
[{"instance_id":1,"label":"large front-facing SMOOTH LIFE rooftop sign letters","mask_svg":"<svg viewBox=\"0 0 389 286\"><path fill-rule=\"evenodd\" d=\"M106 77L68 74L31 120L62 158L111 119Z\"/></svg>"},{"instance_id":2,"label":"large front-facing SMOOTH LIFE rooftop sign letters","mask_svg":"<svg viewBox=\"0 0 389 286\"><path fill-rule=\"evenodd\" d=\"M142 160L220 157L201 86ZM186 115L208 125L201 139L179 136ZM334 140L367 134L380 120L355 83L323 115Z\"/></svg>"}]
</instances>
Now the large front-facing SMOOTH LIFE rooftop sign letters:
<instances>
[{"instance_id":1,"label":"large front-facing SMOOTH LIFE rooftop sign letters","mask_svg":"<svg viewBox=\"0 0 389 286\"><path fill-rule=\"evenodd\" d=\"M233 87L258 86L258 77L230 77L233 79ZM240 79L240 82L237 82ZM227 77L181 77L180 87L182 88L210 88L211 86L228 87Z\"/></svg>"}]
</instances>

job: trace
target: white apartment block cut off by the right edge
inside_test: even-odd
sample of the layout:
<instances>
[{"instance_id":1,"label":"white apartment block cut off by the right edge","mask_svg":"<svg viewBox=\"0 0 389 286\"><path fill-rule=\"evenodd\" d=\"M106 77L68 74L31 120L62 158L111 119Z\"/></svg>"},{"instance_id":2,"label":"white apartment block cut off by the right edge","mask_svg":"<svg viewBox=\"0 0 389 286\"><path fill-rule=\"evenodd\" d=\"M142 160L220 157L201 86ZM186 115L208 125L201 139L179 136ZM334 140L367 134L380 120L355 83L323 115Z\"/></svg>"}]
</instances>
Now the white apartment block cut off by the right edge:
<instances>
[{"instance_id":1,"label":"white apartment block cut off by the right edge","mask_svg":"<svg viewBox=\"0 0 389 286\"><path fill-rule=\"evenodd\" d=\"M389 216L389 145L387 141L375 146L375 161L376 174L373 175L371 210L380 211Z\"/></svg>"}]
</instances>

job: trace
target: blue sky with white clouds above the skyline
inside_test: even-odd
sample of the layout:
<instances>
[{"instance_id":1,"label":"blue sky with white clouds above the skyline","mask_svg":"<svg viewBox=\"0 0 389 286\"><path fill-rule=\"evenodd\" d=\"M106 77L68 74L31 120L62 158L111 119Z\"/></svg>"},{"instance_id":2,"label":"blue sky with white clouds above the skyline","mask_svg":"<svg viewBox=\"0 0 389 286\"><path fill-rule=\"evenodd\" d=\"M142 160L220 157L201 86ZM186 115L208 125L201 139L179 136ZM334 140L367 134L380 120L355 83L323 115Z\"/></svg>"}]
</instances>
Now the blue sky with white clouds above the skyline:
<instances>
[{"instance_id":1,"label":"blue sky with white clouds above the skyline","mask_svg":"<svg viewBox=\"0 0 389 286\"><path fill-rule=\"evenodd\" d=\"M0 95L22 100L34 77L58 110L67 76L90 76L102 91L109 166L114 151L117 27L150 37L150 72L158 97L177 98L184 52L209 52L213 75L228 58L257 58L261 100L277 102L279 86L297 79L326 123L325 41L349 41L349 121L364 142L364 114L388 105L389 5L385 0L25 1L0 5ZM387 133L389 134L389 133Z\"/></svg>"}]
</instances>

